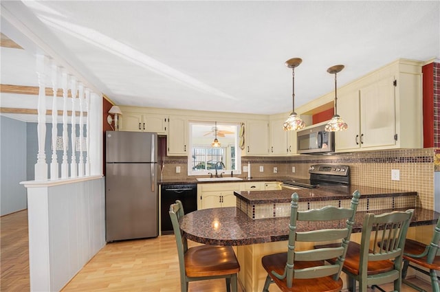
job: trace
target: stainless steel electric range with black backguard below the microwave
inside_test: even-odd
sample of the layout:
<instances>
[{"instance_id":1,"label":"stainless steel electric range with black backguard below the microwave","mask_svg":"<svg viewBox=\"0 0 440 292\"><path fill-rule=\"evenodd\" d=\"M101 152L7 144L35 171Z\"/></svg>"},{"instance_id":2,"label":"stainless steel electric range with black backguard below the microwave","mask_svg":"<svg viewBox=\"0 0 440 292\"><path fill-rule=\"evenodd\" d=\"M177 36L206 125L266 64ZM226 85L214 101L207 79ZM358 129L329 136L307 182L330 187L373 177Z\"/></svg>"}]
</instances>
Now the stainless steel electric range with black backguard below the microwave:
<instances>
[{"instance_id":1,"label":"stainless steel electric range with black backguard below the microwave","mask_svg":"<svg viewBox=\"0 0 440 292\"><path fill-rule=\"evenodd\" d=\"M286 179L289 188L316 188L317 186L349 186L350 166L315 164L309 167L310 179Z\"/></svg>"}]
</instances>

